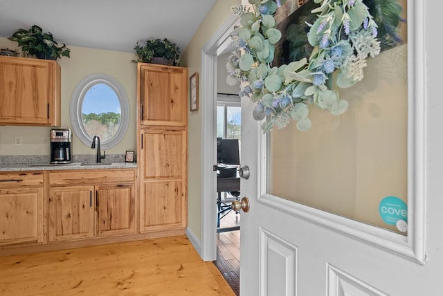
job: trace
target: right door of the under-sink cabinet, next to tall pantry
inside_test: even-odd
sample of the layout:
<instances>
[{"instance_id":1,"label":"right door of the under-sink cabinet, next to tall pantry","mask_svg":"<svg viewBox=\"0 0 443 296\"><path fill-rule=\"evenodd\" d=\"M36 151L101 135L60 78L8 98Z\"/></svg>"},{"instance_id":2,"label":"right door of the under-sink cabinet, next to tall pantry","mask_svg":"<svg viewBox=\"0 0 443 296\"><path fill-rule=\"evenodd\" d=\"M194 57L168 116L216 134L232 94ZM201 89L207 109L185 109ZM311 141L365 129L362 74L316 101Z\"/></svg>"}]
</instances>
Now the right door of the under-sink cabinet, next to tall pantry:
<instances>
[{"instance_id":1,"label":"right door of the under-sink cabinet, next to tall pantry","mask_svg":"<svg viewBox=\"0 0 443 296\"><path fill-rule=\"evenodd\" d=\"M96 186L98 236L135 233L134 185Z\"/></svg>"}]
</instances>

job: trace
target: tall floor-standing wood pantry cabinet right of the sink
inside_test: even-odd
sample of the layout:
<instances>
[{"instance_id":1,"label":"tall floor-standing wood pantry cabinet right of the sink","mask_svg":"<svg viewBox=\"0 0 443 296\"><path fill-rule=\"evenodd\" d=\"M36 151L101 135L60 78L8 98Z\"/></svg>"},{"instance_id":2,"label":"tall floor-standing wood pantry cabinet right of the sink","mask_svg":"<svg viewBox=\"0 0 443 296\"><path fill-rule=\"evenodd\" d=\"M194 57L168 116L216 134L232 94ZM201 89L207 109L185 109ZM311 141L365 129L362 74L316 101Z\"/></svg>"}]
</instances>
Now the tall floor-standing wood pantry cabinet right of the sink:
<instances>
[{"instance_id":1,"label":"tall floor-standing wood pantry cabinet right of the sink","mask_svg":"<svg viewBox=\"0 0 443 296\"><path fill-rule=\"evenodd\" d=\"M188 68L138 63L140 232L188 225Z\"/></svg>"}]
</instances>

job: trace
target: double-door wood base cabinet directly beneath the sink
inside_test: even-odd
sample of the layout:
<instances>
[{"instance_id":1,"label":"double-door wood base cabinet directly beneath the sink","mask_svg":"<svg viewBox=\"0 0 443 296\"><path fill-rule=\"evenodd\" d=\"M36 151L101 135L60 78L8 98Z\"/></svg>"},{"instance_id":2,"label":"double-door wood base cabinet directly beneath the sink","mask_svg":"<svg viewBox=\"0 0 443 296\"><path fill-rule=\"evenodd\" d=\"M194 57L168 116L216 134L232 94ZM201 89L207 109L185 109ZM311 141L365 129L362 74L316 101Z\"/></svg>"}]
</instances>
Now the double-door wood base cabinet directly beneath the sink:
<instances>
[{"instance_id":1,"label":"double-door wood base cabinet directly beneath the sink","mask_svg":"<svg viewBox=\"0 0 443 296\"><path fill-rule=\"evenodd\" d=\"M136 233L135 171L52 171L49 240Z\"/></svg>"}]
</instances>

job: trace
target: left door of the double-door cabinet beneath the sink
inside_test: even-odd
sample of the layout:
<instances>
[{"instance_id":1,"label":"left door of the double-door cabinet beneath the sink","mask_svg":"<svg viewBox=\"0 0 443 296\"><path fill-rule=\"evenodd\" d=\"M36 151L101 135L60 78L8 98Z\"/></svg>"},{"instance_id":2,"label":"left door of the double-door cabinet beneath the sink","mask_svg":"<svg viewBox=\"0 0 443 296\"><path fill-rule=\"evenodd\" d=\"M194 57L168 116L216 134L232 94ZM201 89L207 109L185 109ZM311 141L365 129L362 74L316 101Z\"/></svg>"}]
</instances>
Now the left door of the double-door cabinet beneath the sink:
<instances>
[{"instance_id":1,"label":"left door of the double-door cabinet beneath the sink","mask_svg":"<svg viewBox=\"0 0 443 296\"><path fill-rule=\"evenodd\" d=\"M49 190L49 240L93 237L93 186L54 187Z\"/></svg>"}]
</instances>

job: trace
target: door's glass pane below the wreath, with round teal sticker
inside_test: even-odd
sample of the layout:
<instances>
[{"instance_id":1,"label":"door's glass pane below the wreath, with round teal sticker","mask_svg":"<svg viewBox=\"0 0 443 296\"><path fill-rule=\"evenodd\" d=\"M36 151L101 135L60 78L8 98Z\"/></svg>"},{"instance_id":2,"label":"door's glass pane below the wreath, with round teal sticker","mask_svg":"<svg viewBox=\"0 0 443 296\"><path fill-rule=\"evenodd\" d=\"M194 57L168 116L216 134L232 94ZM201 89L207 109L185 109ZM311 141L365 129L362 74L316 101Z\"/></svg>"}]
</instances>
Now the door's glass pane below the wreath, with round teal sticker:
<instances>
[{"instance_id":1,"label":"door's glass pane below the wreath, with round teal sticker","mask_svg":"<svg viewBox=\"0 0 443 296\"><path fill-rule=\"evenodd\" d=\"M361 82L339 89L349 103L343 115L312 108L310 131L293 120L270 131L268 193L399 232L380 205L388 196L408 203L406 26L401 37L368 59Z\"/></svg>"}]
</instances>

